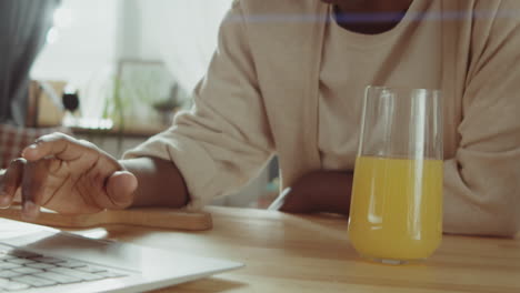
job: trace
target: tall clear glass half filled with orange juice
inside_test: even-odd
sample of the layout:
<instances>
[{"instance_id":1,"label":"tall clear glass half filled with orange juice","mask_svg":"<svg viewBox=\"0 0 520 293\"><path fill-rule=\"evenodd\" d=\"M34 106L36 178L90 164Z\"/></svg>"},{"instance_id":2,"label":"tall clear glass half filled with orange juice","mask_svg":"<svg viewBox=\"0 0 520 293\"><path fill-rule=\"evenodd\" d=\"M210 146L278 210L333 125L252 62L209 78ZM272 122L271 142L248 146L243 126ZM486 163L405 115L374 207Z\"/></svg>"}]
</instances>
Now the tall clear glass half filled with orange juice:
<instances>
[{"instance_id":1,"label":"tall clear glass half filled with orange juice","mask_svg":"<svg viewBox=\"0 0 520 293\"><path fill-rule=\"evenodd\" d=\"M440 91L367 88L349 218L362 256L401 264L439 246L442 148Z\"/></svg>"}]
</instances>

